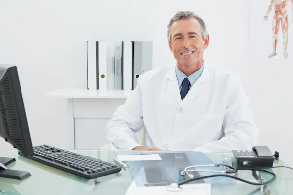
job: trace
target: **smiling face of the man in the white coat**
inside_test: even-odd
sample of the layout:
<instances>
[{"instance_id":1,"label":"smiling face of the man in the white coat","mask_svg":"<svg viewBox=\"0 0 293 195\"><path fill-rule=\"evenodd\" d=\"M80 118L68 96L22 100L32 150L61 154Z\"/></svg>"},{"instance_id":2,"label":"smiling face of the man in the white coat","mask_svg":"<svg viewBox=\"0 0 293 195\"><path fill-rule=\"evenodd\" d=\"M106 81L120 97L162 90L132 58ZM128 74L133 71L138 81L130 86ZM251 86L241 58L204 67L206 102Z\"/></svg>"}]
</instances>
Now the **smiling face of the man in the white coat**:
<instances>
[{"instance_id":1,"label":"smiling face of the man in the white coat","mask_svg":"<svg viewBox=\"0 0 293 195\"><path fill-rule=\"evenodd\" d=\"M203 40L198 20L179 20L172 24L169 47L180 65L196 65L208 45L209 35Z\"/></svg>"}]
</instances>

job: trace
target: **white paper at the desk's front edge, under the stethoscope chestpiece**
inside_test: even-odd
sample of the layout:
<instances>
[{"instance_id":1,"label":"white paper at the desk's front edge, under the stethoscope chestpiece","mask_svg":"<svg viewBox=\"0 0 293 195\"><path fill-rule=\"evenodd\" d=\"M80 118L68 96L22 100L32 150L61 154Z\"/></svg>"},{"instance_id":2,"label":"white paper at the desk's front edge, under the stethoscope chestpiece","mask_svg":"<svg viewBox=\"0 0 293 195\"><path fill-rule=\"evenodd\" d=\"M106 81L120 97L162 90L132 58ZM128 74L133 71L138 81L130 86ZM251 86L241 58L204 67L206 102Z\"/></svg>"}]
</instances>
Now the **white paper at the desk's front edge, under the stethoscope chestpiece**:
<instances>
[{"instance_id":1,"label":"white paper at the desk's front edge, under the stethoscope chestpiece","mask_svg":"<svg viewBox=\"0 0 293 195\"><path fill-rule=\"evenodd\" d=\"M170 192L166 188L167 186L137 187L133 181L125 195L211 195L209 183L184 184L178 192Z\"/></svg>"}]
</instances>

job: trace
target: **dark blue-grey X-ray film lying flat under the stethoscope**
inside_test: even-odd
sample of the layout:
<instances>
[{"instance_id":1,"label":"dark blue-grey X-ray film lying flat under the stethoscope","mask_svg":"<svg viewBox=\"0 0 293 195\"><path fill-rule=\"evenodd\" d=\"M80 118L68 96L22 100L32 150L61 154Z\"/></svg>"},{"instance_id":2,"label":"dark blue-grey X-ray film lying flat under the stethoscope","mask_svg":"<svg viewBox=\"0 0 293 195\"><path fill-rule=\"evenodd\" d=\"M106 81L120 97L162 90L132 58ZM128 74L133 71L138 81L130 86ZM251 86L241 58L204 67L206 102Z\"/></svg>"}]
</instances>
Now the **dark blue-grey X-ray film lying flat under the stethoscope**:
<instances>
[{"instance_id":1,"label":"dark blue-grey X-ray film lying flat under the stethoscope","mask_svg":"<svg viewBox=\"0 0 293 195\"><path fill-rule=\"evenodd\" d=\"M179 183L189 179L187 175L181 176L180 171L191 165L207 165L214 164L202 152L182 152L182 153L159 153L162 160L147 161L127 161L128 169L131 173L136 186L164 186L171 183ZM199 168L198 168L199 169ZM201 167L200 169L219 169L214 167ZM207 176L211 174L219 174L214 172L188 172L194 177ZM218 183L218 184L234 184L235 180L228 177L212 177L192 181L194 183Z\"/></svg>"}]
</instances>

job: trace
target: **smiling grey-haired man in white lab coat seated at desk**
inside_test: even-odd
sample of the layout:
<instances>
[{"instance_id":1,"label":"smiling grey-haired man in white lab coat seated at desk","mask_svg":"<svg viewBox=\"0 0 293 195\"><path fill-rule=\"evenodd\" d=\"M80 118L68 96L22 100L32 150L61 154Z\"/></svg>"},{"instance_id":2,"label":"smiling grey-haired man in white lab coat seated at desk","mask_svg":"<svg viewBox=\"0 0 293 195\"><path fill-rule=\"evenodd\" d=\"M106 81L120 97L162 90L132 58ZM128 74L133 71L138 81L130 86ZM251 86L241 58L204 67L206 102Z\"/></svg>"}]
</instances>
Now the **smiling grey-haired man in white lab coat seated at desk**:
<instances>
[{"instance_id":1,"label":"smiling grey-haired man in white lab coat seated at desk","mask_svg":"<svg viewBox=\"0 0 293 195\"><path fill-rule=\"evenodd\" d=\"M248 98L240 78L204 63L209 45L204 21L193 12L177 12L168 39L177 66L138 78L131 97L107 124L108 140L124 150L251 150L258 128ZM144 126L146 144L140 146L134 133Z\"/></svg>"}]
</instances>

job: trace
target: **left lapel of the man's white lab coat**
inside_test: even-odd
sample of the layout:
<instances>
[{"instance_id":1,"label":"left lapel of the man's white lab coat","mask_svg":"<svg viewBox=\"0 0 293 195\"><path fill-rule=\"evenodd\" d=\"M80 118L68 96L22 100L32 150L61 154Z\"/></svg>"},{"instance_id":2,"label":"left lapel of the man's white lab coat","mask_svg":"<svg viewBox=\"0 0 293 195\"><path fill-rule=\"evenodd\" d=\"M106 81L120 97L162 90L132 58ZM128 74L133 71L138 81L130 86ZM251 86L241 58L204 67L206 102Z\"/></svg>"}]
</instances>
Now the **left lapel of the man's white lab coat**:
<instances>
[{"instance_id":1,"label":"left lapel of the man's white lab coat","mask_svg":"<svg viewBox=\"0 0 293 195\"><path fill-rule=\"evenodd\" d=\"M174 66L167 73L167 89L173 95L175 100L178 101L179 103L181 103L180 89L179 89L175 69L176 69L176 67Z\"/></svg>"}]
</instances>

